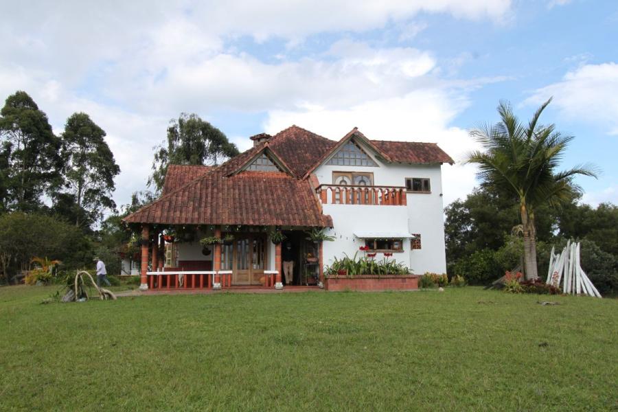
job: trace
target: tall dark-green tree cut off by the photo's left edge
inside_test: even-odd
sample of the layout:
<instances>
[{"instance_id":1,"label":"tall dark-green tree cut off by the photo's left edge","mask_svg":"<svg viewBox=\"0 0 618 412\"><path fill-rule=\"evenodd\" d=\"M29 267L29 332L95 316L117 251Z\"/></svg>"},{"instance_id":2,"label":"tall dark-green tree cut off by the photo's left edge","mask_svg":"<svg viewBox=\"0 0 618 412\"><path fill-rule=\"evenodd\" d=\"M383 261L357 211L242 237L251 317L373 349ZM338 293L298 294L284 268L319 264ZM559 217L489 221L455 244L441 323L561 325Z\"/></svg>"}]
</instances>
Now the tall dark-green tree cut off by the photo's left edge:
<instances>
[{"instance_id":1,"label":"tall dark-green tree cut off by the photo's left edge","mask_svg":"<svg viewBox=\"0 0 618 412\"><path fill-rule=\"evenodd\" d=\"M41 196L60 184L60 139L25 91L10 95L0 111L0 144L6 207L38 209Z\"/></svg>"}]
</instances>

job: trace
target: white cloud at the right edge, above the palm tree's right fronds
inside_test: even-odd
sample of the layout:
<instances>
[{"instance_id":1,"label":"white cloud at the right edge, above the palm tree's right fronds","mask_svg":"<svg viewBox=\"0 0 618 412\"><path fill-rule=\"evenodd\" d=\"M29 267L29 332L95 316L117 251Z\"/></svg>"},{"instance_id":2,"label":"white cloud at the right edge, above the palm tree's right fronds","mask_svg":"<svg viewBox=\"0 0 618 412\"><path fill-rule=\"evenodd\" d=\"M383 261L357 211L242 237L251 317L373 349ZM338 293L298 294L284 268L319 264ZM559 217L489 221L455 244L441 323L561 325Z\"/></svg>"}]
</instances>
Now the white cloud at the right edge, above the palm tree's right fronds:
<instances>
[{"instance_id":1,"label":"white cloud at the right edge, above the palm tree's right fronds","mask_svg":"<svg viewBox=\"0 0 618 412\"><path fill-rule=\"evenodd\" d=\"M618 64L582 65L562 81L534 91L526 102L540 104L553 96L553 106L567 116L583 119L618 135Z\"/></svg>"}]
</instances>

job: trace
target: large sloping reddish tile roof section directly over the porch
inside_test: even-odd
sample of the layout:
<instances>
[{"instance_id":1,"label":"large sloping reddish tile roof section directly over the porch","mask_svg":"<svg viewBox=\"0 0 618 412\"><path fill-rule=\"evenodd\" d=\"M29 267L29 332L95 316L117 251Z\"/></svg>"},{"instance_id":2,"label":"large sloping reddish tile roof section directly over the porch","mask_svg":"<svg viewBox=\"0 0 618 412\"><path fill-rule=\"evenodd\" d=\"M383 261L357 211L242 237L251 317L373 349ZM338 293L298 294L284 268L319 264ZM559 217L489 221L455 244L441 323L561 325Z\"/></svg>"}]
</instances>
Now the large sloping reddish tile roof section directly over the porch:
<instances>
[{"instance_id":1,"label":"large sloping reddish tile roof section directly over the porch","mask_svg":"<svg viewBox=\"0 0 618 412\"><path fill-rule=\"evenodd\" d=\"M225 165L224 165L225 166ZM282 172L240 172L223 166L130 214L126 222L168 225L282 225L325 227L328 216L308 180Z\"/></svg>"}]
</instances>

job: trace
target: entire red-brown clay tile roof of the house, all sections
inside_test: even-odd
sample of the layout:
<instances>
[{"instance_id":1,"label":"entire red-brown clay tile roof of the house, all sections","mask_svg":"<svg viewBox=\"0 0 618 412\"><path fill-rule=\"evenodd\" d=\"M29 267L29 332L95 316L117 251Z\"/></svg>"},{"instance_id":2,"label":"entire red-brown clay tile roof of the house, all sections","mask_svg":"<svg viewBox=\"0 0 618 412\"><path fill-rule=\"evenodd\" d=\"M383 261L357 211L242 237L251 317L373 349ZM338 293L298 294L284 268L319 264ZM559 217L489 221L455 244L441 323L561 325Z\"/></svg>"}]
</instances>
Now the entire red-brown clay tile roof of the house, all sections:
<instances>
[{"instance_id":1,"label":"entire red-brown clay tile roof of the house, all sections","mask_svg":"<svg viewBox=\"0 0 618 412\"><path fill-rule=\"evenodd\" d=\"M219 166L170 165L163 196L127 216L168 225L332 226L322 214L312 171L346 141L358 140L387 163L453 163L435 144L370 140L357 128L338 142L291 126ZM262 138L264 139L262 141ZM285 172L244 170L268 152Z\"/></svg>"}]
</instances>

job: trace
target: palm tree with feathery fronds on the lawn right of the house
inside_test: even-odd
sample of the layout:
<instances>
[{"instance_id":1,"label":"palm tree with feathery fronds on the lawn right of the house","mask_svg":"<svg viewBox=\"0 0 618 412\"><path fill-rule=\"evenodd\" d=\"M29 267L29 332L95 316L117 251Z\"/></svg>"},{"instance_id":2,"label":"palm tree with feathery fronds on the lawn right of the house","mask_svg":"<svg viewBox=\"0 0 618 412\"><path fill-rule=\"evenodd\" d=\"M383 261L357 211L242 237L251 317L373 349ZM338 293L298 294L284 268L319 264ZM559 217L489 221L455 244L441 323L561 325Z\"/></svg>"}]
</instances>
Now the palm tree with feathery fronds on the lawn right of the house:
<instances>
[{"instance_id":1,"label":"palm tree with feathery fronds on the lawn right of the house","mask_svg":"<svg viewBox=\"0 0 618 412\"><path fill-rule=\"evenodd\" d=\"M538 277L535 209L543 204L559 205L574 192L581 192L581 187L573 183L577 174L596 177L589 165L556 171L573 136L557 132L554 124L538 123L550 102L551 98L538 108L528 124L522 124L511 104L501 101L500 122L483 124L470 131L483 150L470 152L466 159L466 163L478 165L477 176L483 184L518 201L526 279Z\"/></svg>"}]
</instances>

